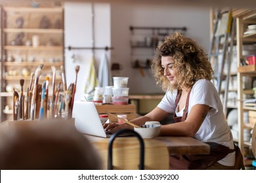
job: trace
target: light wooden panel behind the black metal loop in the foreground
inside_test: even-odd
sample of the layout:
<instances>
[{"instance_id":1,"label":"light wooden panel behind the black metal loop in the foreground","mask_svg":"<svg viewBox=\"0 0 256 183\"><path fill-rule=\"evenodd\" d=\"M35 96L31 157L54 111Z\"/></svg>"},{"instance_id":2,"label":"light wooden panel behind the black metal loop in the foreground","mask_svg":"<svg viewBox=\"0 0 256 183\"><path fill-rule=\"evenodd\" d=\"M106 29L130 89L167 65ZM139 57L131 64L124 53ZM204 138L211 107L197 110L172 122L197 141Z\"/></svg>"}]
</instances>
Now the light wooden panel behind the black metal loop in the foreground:
<instances>
[{"instance_id":1,"label":"light wooden panel behind the black metal loop in the foreground","mask_svg":"<svg viewBox=\"0 0 256 183\"><path fill-rule=\"evenodd\" d=\"M102 157L104 169L107 169L109 141L110 139L102 139L93 142ZM169 169L169 152L167 146L154 139L143 139L143 141L144 169ZM139 169L140 147L137 137L116 137L112 146L112 168L115 170Z\"/></svg>"}]
</instances>

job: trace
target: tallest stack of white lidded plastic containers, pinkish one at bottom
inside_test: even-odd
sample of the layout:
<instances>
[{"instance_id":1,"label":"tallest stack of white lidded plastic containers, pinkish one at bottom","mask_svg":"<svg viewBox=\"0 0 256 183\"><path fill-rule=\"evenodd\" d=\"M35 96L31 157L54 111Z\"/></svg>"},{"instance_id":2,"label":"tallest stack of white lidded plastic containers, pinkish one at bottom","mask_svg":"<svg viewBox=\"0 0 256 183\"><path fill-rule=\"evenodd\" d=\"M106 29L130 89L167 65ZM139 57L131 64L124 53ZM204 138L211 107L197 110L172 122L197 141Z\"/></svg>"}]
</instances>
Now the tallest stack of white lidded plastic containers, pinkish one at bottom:
<instances>
[{"instance_id":1,"label":"tallest stack of white lidded plastic containers, pinkish one at bottom","mask_svg":"<svg viewBox=\"0 0 256 183\"><path fill-rule=\"evenodd\" d=\"M127 88L128 77L113 77L114 88L112 88L114 105L127 105L129 100L129 88Z\"/></svg>"}]
</instances>

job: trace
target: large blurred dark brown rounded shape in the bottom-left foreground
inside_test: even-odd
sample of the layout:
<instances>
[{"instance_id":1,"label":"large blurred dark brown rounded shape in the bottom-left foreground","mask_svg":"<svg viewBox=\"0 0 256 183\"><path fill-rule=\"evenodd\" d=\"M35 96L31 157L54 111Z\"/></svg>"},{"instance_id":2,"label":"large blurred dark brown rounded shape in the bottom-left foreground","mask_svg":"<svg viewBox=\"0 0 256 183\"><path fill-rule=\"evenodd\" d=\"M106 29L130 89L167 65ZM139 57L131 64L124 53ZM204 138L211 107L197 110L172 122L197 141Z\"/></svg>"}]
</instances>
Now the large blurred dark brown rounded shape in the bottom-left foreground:
<instances>
[{"instance_id":1,"label":"large blurred dark brown rounded shape in the bottom-left foreground","mask_svg":"<svg viewBox=\"0 0 256 183\"><path fill-rule=\"evenodd\" d=\"M101 169L92 144L67 122L13 125L1 136L1 169Z\"/></svg>"}]
</instances>

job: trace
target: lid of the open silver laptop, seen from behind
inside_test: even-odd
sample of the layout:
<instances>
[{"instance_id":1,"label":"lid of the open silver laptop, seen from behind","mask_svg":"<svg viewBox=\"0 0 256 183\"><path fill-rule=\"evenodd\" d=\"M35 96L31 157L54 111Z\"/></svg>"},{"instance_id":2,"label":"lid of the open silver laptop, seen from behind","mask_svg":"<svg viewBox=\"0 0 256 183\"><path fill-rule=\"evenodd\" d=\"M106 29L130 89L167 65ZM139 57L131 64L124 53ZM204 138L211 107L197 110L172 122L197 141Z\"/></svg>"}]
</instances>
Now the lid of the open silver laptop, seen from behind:
<instances>
[{"instance_id":1,"label":"lid of the open silver laptop, seen from behind","mask_svg":"<svg viewBox=\"0 0 256 183\"><path fill-rule=\"evenodd\" d=\"M72 117L75 118L75 128L80 133L109 137L104 131L95 103L87 101L74 101Z\"/></svg>"}]
</instances>

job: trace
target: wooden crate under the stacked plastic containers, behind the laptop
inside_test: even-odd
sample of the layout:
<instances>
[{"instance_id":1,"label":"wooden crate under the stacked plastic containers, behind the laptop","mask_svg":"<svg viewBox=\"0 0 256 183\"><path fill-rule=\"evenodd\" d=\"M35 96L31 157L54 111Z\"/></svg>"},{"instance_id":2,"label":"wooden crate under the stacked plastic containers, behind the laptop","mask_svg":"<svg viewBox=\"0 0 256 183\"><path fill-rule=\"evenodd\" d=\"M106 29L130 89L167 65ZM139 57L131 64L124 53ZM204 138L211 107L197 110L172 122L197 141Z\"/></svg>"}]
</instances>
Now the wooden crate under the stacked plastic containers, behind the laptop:
<instances>
[{"instance_id":1,"label":"wooden crate under the stacked plastic containers, behind the laptop","mask_svg":"<svg viewBox=\"0 0 256 183\"><path fill-rule=\"evenodd\" d=\"M110 112L114 115L117 114L126 114L127 120L133 120L137 117L136 114L136 105L95 105L98 111L98 114L106 114ZM117 118L109 116L111 122L117 122Z\"/></svg>"}]
</instances>

